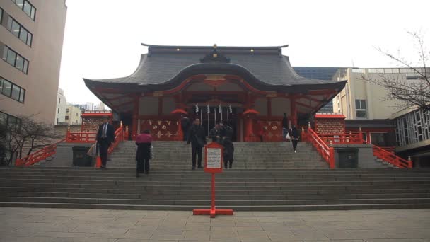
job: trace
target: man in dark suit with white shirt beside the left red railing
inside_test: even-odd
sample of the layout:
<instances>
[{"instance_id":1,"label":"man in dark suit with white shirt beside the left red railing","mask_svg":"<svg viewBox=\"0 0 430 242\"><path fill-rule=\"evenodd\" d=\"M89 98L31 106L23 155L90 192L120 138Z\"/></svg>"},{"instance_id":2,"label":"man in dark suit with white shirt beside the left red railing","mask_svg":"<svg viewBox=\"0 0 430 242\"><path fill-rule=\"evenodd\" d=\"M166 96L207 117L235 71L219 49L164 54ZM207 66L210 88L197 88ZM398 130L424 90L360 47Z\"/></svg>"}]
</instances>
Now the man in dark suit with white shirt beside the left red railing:
<instances>
[{"instance_id":1,"label":"man in dark suit with white shirt beside the left red railing","mask_svg":"<svg viewBox=\"0 0 430 242\"><path fill-rule=\"evenodd\" d=\"M105 168L106 162L108 161L109 146L110 144L115 142L115 131L113 130L113 125L109 123L108 119L105 119L103 124L101 124L98 127L96 139L97 139L100 159L102 160L101 168Z\"/></svg>"}]
</instances>

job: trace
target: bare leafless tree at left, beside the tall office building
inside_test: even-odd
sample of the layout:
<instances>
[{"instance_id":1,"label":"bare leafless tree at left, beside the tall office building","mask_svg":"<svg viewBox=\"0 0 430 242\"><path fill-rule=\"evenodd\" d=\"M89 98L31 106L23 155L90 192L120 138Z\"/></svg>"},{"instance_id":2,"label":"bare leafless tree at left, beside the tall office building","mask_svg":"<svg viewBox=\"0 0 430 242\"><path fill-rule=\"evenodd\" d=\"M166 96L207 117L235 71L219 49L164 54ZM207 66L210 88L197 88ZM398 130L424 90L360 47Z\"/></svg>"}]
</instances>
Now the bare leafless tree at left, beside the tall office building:
<instances>
[{"instance_id":1,"label":"bare leafless tree at left, beside the tall office building","mask_svg":"<svg viewBox=\"0 0 430 242\"><path fill-rule=\"evenodd\" d=\"M4 144L8 156L4 165L11 165L16 156L28 156L43 146L58 142L64 136L57 134L52 125L35 121L32 116L20 117L20 120L21 122L6 127Z\"/></svg>"}]
</instances>

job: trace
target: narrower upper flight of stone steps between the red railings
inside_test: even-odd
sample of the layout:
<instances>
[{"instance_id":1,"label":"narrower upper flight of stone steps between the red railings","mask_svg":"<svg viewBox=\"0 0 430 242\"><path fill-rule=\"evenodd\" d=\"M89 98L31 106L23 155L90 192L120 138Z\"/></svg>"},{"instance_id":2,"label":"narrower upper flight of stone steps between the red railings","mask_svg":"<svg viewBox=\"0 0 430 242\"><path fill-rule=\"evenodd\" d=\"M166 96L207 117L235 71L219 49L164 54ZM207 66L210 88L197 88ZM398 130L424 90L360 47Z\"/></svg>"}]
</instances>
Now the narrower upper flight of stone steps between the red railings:
<instances>
[{"instance_id":1,"label":"narrower upper flight of stone steps between the red railings","mask_svg":"<svg viewBox=\"0 0 430 242\"><path fill-rule=\"evenodd\" d=\"M294 153L290 142L233 142L235 169L327 169L311 144L299 142ZM136 145L121 142L108 158L110 168L135 168ZM204 150L203 150L204 163ZM191 146L186 142L153 142L151 168L191 168Z\"/></svg>"}]
</instances>

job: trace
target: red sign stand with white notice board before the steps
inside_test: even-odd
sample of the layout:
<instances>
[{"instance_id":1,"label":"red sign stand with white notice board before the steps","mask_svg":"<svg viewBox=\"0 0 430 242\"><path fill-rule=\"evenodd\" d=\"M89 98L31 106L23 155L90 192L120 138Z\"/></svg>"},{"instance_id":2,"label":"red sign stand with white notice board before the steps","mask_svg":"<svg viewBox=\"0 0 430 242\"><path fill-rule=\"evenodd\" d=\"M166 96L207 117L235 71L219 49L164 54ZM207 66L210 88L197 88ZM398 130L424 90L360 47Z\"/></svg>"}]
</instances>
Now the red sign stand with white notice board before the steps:
<instances>
[{"instance_id":1,"label":"red sign stand with white notice board before the steps","mask_svg":"<svg viewBox=\"0 0 430 242\"><path fill-rule=\"evenodd\" d=\"M220 162L219 162L219 166L214 168L214 167L208 167L207 164L207 159L208 159L208 149L219 149L219 154L221 154L220 156ZM204 171L207 173L211 173L212 174L212 181L211 181L211 209L194 209L192 210L192 214L193 215L207 215L209 214L211 216L211 218L214 218L216 216L216 214L219 215L233 215L233 210L232 209L216 209L215 207L215 173L221 173L222 172L222 163L223 163L223 146L221 146L220 144L217 144L216 142L212 142L211 144L208 144L205 148L205 159L204 159Z\"/></svg>"}]
</instances>

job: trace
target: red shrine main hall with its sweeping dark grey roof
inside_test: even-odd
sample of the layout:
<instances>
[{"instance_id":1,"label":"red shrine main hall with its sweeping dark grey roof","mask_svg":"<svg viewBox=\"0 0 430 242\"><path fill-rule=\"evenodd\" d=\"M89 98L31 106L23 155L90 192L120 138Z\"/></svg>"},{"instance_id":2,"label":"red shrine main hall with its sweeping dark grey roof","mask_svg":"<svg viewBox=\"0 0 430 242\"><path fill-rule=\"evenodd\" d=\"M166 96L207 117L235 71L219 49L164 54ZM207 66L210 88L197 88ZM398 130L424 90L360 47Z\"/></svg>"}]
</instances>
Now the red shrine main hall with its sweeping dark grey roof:
<instances>
[{"instance_id":1,"label":"red shrine main hall with its sweeping dark grey roof","mask_svg":"<svg viewBox=\"0 0 430 242\"><path fill-rule=\"evenodd\" d=\"M307 79L296 74L287 47L146 45L133 74L84 79L112 108L131 137L149 129L156 140L182 140L180 120L201 118L206 132L228 122L236 141L281 141L281 120L307 125L346 81Z\"/></svg>"}]
</instances>

